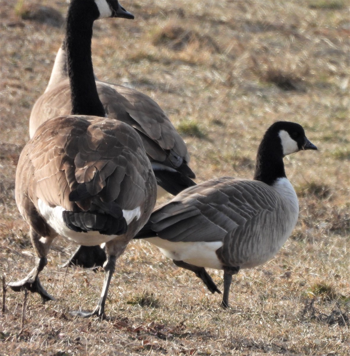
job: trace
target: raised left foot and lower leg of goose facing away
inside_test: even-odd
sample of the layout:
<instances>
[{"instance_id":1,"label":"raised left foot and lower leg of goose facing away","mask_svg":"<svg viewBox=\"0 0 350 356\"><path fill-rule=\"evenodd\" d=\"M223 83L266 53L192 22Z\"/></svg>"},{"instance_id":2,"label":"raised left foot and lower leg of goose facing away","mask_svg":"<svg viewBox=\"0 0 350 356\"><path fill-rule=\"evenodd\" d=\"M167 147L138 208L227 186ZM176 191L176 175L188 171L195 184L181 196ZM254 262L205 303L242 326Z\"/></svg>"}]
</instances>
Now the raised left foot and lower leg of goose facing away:
<instances>
[{"instance_id":1,"label":"raised left foot and lower leg of goose facing away","mask_svg":"<svg viewBox=\"0 0 350 356\"><path fill-rule=\"evenodd\" d=\"M26 278L21 279L21 281L10 282L8 286L15 292L27 289L32 293L39 293L43 298L44 302L48 300L55 300L41 285L39 281L39 273L47 265L46 257L37 257L35 267L28 274Z\"/></svg>"}]
</instances>

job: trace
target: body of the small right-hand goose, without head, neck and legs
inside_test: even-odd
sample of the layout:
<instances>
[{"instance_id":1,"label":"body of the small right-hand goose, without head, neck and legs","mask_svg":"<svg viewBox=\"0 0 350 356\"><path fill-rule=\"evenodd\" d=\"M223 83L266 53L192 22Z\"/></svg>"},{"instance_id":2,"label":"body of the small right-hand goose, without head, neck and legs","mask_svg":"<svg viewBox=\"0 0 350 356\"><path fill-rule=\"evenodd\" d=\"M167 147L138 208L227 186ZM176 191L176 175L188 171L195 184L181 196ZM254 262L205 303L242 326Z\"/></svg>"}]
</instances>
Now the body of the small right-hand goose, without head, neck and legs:
<instances>
[{"instance_id":1,"label":"body of the small right-hand goose, without head, neck and legs","mask_svg":"<svg viewBox=\"0 0 350 356\"><path fill-rule=\"evenodd\" d=\"M185 192L181 194L185 200L185 203L181 201L181 208L175 203L172 210L172 200L164 209L167 229L170 229L171 219L178 219L178 215L172 215L174 210L187 210L186 213L192 216L184 218L181 223L173 223L171 232L166 232L166 239L162 238L164 230L161 230L157 237L147 241L158 246L172 260L199 267L224 269L226 265L233 265L251 268L274 257L290 236L298 218L298 200L290 182L281 178L270 188L259 181L223 177L205 183L190 189L186 198ZM234 211L227 211L228 206L234 206ZM163 214L160 209L152 215L153 226L162 224ZM247 229L250 229L249 235ZM186 232L183 230L195 230L196 234L184 237ZM219 257L216 253L219 248L231 249L230 256Z\"/></svg>"}]
</instances>

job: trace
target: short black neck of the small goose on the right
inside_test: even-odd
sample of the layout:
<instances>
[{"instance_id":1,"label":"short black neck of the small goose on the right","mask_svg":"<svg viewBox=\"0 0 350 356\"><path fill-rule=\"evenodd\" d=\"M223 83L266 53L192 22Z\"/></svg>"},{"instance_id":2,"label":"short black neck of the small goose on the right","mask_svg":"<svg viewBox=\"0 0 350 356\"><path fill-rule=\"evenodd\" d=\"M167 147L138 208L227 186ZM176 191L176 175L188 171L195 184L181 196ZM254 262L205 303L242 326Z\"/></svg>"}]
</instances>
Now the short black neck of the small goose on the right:
<instances>
[{"instance_id":1,"label":"short black neck of the small goose on the right","mask_svg":"<svg viewBox=\"0 0 350 356\"><path fill-rule=\"evenodd\" d=\"M264 136L258 149L254 179L272 185L278 178L286 178L282 147L276 138Z\"/></svg>"}]
</instances>

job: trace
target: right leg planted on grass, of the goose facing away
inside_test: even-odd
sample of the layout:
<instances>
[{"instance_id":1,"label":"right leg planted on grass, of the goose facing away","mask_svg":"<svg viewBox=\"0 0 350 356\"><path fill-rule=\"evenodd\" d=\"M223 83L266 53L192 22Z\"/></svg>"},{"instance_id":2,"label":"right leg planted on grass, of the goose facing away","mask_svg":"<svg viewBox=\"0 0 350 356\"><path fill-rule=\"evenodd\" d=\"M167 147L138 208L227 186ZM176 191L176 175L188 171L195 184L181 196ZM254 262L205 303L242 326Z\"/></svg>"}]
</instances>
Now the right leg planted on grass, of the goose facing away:
<instances>
[{"instance_id":1,"label":"right leg planted on grass, of the goose facing away","mask_svg":"<svg viewBox=\"0 0 350 356\"><path fill-rule=\"evenodd\" d=\"M117 258L115 256L108 256L107 261L103 266L104 282L103 282L101 297L97 303L95 310L93 310L92 312L84 312L82 310L77 310L76 312L71 312L70 313L71 315L82 316L83 318L88 318L90 316L96 315L101 319L105 318L104 305L106 304L108 288L109 288L109 284L111 283L112 275L114 273L116 260Z\"/></svg>"}]
</instances>

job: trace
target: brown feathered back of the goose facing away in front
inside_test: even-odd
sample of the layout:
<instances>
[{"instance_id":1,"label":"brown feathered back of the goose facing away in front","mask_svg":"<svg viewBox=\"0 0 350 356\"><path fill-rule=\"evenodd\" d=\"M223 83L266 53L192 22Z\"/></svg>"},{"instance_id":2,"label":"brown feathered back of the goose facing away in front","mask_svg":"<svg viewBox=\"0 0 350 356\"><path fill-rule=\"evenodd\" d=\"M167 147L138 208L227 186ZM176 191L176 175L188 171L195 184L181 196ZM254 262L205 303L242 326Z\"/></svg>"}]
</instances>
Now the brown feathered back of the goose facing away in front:
<instances>
[{"instance_id":1,"label":"brown feathered back of the goose facing away in front","mask_svg":"<svg viewBox=\"0 0 350 356\"><path fill-rule=\"evenodd\" d=\"M71 211L87 211L92 204L101 212L112 211L111 203L126 210L140 206L141 215L152 210L155 178L142 147L123 122L81 115L48 120L18 162L16 201L22 215L27 220L33 206L38 211L39 199ZM85 185L87 197L70 201L79 184Z\"/></svg>"}]
</instances>

